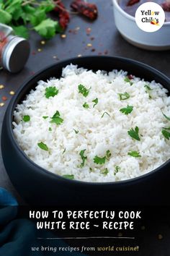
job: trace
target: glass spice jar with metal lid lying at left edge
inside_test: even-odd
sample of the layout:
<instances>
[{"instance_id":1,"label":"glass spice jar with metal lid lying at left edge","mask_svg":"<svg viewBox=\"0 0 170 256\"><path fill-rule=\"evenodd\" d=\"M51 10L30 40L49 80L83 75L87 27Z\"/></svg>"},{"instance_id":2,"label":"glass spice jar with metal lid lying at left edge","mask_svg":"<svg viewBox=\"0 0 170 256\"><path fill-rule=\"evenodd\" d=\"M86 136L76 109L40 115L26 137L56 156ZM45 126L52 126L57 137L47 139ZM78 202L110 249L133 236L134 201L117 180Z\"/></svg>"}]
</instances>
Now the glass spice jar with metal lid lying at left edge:
<instances>
[{"instance_id":1,"label":"glass spice jar with metal lid lying at left edge","mask_svg":"<svg viewBox=\"0 0 170 256\"><path fill-rule=\"evenodd\" d=\"M30 54L30 43L14 35L12 27L0 23L0 67L19 72Z\"/></svg>"}]
</instances>

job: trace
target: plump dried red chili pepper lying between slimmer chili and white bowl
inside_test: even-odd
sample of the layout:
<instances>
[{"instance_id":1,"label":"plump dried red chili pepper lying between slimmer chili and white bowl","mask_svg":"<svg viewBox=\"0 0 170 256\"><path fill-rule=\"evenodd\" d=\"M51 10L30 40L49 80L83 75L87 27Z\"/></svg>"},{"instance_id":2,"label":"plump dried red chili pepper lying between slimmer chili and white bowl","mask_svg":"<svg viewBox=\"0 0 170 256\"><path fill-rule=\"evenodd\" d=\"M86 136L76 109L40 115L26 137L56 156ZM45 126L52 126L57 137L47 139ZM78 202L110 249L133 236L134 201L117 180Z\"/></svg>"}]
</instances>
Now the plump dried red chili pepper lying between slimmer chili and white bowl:
<instances>
[{"instance_id":1,"label":"plump dried red chili pepper lying between slimmer chili and white bowl","mask_svg":"<svg viewBox=\"0 0 170 256\"><path fill-rule=\"evenodd\" d=\"M96 4L86 3L82 0L75 0L71 3L71 8L73 8L74 11L79 12L79 14L83 14L88 17L90 20L97 19L98 11Z\"/></svg>"}]
</instances>

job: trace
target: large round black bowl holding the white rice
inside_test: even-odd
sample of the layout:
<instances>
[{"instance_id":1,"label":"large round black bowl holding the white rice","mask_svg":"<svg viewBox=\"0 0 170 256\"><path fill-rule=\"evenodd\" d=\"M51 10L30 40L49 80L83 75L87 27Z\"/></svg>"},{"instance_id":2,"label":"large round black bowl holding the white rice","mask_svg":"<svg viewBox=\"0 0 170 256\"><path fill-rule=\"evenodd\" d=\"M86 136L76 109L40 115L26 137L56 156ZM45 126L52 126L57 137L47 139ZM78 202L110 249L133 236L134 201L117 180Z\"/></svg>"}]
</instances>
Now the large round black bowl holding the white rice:
<instances>
[{"instance_id":1,"label":"large round black bowl holding the white rice","mask_svg":"<svg viewBox=\"0 0 170 256\"><path fill-rule=\"evenodd\" d=\"M9 103L1 132L4 166L19 194L30 204L55 205L161 205L168 203L170 161L148 174L123 182L94 183L65 179L37 166L19 148L12 131L13 111L39 80L61 77L63 67L78 64L86 69L123 69L129 74L156 80L170 90L170 80L156 69L131 59L89 56L68 59L43 69L24 83ZM141 120L142 121L142 120ZM168 194L167 194L168 195Z\"/></svg>"}]
</instances>

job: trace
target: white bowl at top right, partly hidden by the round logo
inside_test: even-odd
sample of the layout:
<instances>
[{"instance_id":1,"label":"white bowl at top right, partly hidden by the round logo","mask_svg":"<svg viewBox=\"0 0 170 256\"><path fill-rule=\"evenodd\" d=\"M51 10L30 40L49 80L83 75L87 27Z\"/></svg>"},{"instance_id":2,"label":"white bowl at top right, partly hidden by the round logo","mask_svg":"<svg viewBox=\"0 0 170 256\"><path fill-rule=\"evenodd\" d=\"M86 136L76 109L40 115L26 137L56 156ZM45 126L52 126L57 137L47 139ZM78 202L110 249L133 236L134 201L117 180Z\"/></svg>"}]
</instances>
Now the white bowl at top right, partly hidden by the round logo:
<instances>
[{"instance_id":1,"label":"white bowl at top right, partly hidden by the round logo","mask_svg":"<svg viewBox=\"0 0 170 256\"><path fill-rule=\"evenodd\" d=\"M115 25L125 40L137 46L152 51L164 51L170 49L170 22L165 22L160 30L153 33L140 30L135 23L135 17L125 12L118 4L119 0L113 0Z\"/></svg>"}]
</instances>

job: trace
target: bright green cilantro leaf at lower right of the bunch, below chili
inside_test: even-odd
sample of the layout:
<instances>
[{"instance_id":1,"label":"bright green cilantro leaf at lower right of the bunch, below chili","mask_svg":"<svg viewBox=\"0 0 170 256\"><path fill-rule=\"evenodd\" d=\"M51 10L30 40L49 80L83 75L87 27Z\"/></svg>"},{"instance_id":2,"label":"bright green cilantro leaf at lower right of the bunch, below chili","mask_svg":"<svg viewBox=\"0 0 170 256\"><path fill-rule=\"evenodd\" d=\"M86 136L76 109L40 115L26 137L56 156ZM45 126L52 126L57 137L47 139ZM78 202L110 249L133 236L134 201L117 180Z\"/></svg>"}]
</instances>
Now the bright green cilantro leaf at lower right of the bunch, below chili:
<instances>
[{"instance_id":1,"label":"bright green cilantro leaf at lower right of the bunch, below chili","mask_svg":"<svg viewBox=\"0 0 170 256\"><path fill-rule=\"evenodd\" d=\"M51 19L42 20L40 24L34 27L35 31L43 38L50 39L55 35L58 27L58 22Z\"/></svg>"}]
</instances>

